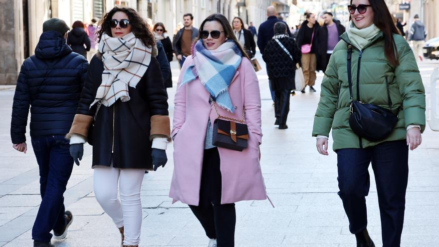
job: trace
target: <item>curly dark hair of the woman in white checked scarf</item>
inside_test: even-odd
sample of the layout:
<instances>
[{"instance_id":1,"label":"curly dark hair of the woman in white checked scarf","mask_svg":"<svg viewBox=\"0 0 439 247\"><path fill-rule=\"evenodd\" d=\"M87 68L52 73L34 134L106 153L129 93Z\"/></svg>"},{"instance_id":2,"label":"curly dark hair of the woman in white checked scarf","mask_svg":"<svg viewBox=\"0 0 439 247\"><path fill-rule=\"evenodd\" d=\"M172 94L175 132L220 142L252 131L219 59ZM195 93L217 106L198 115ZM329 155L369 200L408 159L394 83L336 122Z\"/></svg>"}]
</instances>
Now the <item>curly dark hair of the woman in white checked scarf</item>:
<instances>
[{"instance_id":1,"label":"curly dark hair of the woman in white checked scarf","mask_svg":"<svg viewBox=\"0 0 439 247\"><path fill-rule=\"evenodd\" d=\"M99 21L99 30L96 32L98 42L101 41L102 34L106 33L111 36L110 21L116 12L124 12L128 15L128 20L131 24L131 31L134 33L136 38L142 40L143 44L147 47L152 47L155 45L155 38L153 33L150 31L150 26L146 21L136 12L136 10L130 7L114 7L108 13L102 17Z\"/></svg>"}]
</instances>

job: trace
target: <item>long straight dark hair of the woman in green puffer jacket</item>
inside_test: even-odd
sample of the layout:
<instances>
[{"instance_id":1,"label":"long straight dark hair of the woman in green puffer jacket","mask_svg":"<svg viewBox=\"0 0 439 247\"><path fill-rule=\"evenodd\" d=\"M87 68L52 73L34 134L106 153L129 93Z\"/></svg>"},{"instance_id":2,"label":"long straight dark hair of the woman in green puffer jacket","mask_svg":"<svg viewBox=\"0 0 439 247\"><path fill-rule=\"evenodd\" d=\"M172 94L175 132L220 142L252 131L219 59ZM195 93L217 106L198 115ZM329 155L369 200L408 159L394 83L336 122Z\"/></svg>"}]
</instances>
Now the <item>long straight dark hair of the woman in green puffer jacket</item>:
<instances>
[{"instance_id":1,"label":"long straight dark hair of the woman in green puffer jacket","mask_svg":"<svg viewBox=\"0 0 439 247\"><path fill-rule=\"evenodd\" d=\"M390 64L396 66L400 64L398 61L398 51L393 38L393 34L401 34L393 21L392 14L390 14L389 8L387 8L384 0L369 0L374 10L374 24L380 28L384 36L384 54L389 60ZM351 0L352 4L352 0ZM349 20L351 20L349 15Z\"/></svg>"}]
</instances>

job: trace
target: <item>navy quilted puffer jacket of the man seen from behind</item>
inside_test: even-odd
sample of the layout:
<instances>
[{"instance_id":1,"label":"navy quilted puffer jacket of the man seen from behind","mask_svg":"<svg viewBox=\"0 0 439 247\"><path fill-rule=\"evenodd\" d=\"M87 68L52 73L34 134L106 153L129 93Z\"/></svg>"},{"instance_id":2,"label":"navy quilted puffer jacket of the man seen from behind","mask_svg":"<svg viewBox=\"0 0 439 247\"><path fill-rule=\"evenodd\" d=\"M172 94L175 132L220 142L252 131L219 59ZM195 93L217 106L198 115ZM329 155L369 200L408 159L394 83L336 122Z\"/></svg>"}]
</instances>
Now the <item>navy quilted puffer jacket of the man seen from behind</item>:
<instances>
[{"instance_id":1,"label":"navy quilted puffer jacket of the man seen from behind","mask_svg":"<svg viewBox=\"0 0 439 247\"><path fill-rule=\"evenodd\" d=\"M43 32L35 55L24 60L12 105L12 143L26 141L30 106L30 136L65 135L78 107L88 69L87 60L56 31Z\"/></svg>"}]
</instances>

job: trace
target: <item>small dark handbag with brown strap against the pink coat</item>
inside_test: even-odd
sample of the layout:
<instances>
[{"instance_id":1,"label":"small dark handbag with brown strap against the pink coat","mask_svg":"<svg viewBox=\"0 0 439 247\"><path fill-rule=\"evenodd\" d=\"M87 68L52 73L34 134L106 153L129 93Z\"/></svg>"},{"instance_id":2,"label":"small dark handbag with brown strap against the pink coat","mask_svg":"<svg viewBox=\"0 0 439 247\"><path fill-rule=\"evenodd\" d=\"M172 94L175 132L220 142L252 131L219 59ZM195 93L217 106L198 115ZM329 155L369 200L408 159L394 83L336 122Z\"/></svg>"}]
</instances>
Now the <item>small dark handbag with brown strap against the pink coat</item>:
<instances>
[{"instance_id":1,"label":"small dark handbag with brown strap against the pink coat","mask_svg":"<svg viewBox=\"0 0 439 247\"><path fill-rule=\"evenodd\" d=\"M242 119L234 119L219 115L217 103L212 99L212 104L217 112L214 122L212 145L241 152L248 145L248 127L245 124L245 109L242 111ZM222 119L220 119L222 118Z\"/></svg>"}]
</instances>

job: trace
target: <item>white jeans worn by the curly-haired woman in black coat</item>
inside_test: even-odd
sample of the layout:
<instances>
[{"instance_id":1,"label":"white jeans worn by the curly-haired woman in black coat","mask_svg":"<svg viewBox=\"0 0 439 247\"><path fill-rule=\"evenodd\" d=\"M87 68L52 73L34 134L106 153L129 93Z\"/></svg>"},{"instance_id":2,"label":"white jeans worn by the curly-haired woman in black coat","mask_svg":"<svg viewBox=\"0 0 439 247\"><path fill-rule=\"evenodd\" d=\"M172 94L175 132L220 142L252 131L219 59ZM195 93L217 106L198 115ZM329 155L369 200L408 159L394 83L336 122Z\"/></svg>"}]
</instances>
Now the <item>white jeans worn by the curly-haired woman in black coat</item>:
<instances>
[{"instance_id":1,"label":"white jeans worn by the curly-haired woman in black coat","mask_svg":"<svg viewBox=\"0 0 439 247\"><path fill-rule=\"evenodd\" d=\"M96 166L93 169L93 188L96 200L102 209L113 219L116 227L124 227L124 245L135 246L140 243L142 227L142 205L140 188L145 170L118 169ZM120 201L117 198L119 182Z\"/></svg>"}]
</instances>

